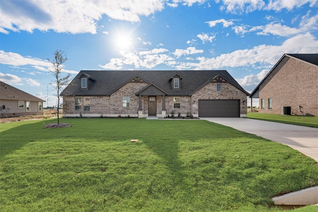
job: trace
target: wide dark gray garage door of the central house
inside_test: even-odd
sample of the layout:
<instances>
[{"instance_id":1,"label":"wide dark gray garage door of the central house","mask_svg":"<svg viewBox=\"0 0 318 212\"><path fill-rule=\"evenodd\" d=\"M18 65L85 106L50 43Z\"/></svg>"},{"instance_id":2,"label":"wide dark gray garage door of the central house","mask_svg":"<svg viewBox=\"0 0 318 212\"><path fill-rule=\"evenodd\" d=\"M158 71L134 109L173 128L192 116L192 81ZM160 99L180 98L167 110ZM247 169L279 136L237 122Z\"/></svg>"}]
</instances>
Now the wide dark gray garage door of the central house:
<instances>
[{"instance_id":1,"label":"wide dark gray garage door of the central house","mask_svg":"<svg viewBox=\"0 0 318 212\"><path fill-rule=\"evenodd\" d=\"M199 100L199 117L239 117L239 100Z\"/></svg>"}]
</instances>

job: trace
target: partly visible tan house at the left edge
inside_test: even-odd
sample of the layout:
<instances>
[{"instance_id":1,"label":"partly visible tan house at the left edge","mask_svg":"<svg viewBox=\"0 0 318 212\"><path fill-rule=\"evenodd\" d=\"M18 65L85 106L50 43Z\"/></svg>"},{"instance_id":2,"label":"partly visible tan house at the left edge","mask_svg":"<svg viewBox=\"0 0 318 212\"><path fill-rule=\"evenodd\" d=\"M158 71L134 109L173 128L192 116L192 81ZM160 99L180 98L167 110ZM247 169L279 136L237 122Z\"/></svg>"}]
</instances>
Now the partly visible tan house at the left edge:
<instances>
[{"instance_id":1,"label":"partly visible tan house at the left edge","mask_svg":"<svg viewBox=\"0 0 318 212\"><path fill-rule=\"evenodd\" d=\"M1 118L42 115L44 100L0 81Z\"/></svg>"}]
</instances>

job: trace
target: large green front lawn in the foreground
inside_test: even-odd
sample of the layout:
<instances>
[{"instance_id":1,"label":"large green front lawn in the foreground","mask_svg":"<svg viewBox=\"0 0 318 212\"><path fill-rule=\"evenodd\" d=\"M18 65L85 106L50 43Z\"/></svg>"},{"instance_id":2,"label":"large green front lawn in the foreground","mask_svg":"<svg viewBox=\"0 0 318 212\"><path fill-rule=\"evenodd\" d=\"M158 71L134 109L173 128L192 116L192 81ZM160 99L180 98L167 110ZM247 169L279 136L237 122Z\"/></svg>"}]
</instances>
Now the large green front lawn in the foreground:
<instances>
[{"instance_id":1,"label":"large green front lawn in the foreground","mask_svg":"<svg viewBox=\"0 0 318 212\"><path fill-rule=\"evenodd\" d=\"M318 185L313 159L207 121L42 122L0 124L0 211L280 211Z\"/></svg>"}]
</instances>

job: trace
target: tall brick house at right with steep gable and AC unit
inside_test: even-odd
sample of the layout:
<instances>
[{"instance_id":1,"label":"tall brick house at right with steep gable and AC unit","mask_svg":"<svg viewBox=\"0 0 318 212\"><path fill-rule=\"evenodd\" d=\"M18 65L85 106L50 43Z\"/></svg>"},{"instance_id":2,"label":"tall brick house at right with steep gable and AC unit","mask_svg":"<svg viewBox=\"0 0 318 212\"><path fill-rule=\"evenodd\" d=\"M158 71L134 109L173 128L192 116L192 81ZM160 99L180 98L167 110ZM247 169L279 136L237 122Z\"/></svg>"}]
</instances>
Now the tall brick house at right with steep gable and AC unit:
<instances>
[{"instance_id":1,"label":"tall brick house at right with steep gable and AC unit","mask_svg":"<svg viewBox=\"0 0 318 212\"><path fill-rule=\"evenodd\" d=\"M285 54L250 98L260 113L318 116L318 54Z\"/></svg>"}]
</instances>

